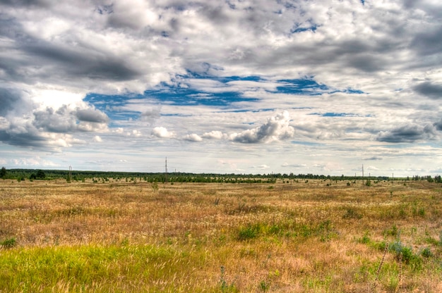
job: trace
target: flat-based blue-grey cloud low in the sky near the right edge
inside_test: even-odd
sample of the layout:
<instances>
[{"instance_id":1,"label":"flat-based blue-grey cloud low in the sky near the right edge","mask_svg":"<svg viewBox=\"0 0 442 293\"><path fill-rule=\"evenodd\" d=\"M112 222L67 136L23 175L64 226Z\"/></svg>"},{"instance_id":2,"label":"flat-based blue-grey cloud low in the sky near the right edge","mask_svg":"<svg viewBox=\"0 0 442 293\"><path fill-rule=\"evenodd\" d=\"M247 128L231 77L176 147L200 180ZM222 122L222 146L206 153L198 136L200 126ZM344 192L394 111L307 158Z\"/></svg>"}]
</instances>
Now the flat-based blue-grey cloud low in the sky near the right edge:
<instances>
[{"instance_id":1,"label":"flat-based blue-grey cloud low in the sky near the right edge","mask_svg":"<svg viewBox=\"0 0 442 293\"><path fill-rule=\"evenodd\" d=\"M379 142L417 142L438 139L436 127L427 125L403 125L393 130L379 132L376 140Z\"/></svg>"}]
</instances>

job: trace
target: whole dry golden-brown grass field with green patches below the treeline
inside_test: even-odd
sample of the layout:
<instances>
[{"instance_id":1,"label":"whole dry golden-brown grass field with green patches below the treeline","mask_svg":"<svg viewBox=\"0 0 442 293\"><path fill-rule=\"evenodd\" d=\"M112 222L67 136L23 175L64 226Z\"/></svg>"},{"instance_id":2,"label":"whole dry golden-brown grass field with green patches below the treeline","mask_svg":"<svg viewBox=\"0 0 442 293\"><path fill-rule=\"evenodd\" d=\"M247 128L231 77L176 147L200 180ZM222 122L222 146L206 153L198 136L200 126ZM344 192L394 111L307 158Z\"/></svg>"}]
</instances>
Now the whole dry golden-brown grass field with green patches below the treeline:
<instances>
[{"instance_id":1,"label":"whole dry golden-brown grass field with green patches below the treeline","mask_svg":"<svg viewBox=\"0 0 442 293\"><path fill-rule=\"evenodd\" d=\"M0 292L442 292L442 185L0 180Z\"/></svg>"}]
</instances>

